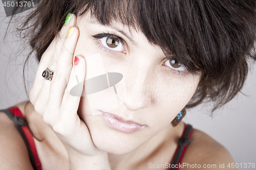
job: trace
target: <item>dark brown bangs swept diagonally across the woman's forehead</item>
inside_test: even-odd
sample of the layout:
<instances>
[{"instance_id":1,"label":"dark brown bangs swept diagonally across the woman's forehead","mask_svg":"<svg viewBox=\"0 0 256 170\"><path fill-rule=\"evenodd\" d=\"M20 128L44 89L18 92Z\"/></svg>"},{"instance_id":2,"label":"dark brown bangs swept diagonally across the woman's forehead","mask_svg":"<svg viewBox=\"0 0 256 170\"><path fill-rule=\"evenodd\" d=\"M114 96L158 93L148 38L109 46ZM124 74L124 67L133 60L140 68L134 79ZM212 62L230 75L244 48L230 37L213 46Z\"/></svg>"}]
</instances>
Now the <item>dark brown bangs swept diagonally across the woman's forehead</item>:
<instances>
[{"instance_id":1,"label":"dark brown bangs swept diagonally across the woman's forehead","mask_svg":"<svg viewBox=\"0 0 256 170\"><path fill-rule=\"evenodd\" d=\"M193 34L186 14L189 1L117 1L94 0L91 16L103 26L117 21L129 28L141 31L150 44L159 46L167 58L177 58L191 73L202 69L201 60L195 56ZM193 53L191 53L193 51Z\"/></svg>"}]
</instances>

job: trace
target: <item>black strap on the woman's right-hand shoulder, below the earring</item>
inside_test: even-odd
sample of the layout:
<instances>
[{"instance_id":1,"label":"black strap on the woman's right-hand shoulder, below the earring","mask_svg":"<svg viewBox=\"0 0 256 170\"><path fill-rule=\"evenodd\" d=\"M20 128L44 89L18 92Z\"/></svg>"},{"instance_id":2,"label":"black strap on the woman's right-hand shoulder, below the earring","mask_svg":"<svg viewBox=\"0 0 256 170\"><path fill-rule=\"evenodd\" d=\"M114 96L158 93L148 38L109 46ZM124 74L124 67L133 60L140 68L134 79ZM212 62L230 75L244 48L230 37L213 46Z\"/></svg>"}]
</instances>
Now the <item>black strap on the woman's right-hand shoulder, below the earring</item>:
<instances>
[{"instance_id":1,"label":"black strap on the woman's right-hand shoulder, below the earring","mask_svg":"<svg viewBox=\"0 0 256 170\"><path fill-rule=\"evenodd\" d=\"M186 145L188 145L191 141L191 139L189 138L189 134L190 134L192 129L193 129L192 126L188 124L186 129L185 129L185 132L184 132L183 136L178 140L179 148L176 152L176 155L174 157L174 160L173 160L172 164L174 164L174 165L178 164L184 147ZM176 169L175 166L170 167L170 170L174 170L174 169Z\"/></svg>"}]
</instances>

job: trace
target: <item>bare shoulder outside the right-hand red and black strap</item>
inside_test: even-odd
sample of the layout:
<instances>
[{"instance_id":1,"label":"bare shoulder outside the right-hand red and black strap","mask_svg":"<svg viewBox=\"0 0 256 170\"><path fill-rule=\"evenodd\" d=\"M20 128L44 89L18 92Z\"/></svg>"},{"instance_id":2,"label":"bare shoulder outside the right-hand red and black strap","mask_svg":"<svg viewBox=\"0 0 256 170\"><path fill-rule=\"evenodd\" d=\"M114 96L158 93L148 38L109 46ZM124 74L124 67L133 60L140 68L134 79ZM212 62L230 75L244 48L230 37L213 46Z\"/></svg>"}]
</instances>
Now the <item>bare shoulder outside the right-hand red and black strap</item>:
<instances>
[{"instance_id":1,"label":"bare shoulder outside the right-hand red and black strap","mask_svg":"<svg viewBox=\"0 0 256 170\"><path fill-rule=\"evenodd\" d=\"M211 167L207 167L207 169L220 168L220 164L224 163L225 168L221 169L230 169L227 165L234 161L223 145L212 139L204 132L193 129L191 142L187 147L182 162L189 164L197 163L200 164L201 167L203 167L204 164L206 164L206 166L208 164L211 165ZM214 165L216 165L216 167L214 167Z\"/></svg>"}]
</instances>

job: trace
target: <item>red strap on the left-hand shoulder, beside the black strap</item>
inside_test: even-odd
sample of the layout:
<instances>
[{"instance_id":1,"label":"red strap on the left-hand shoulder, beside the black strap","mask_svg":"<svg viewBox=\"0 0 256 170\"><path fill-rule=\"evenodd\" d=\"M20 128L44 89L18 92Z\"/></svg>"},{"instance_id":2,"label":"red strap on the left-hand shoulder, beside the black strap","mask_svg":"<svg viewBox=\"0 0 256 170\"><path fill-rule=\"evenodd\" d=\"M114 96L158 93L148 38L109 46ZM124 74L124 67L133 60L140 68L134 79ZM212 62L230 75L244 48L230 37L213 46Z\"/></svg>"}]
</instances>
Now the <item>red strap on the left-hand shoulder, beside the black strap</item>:
<instances>
[{"instance_id":1,"label":"red strap on the left-hand shoulder, beside the black strap","mask_svg":"<svg viewBox=\"0 0 256 170\"><path fill-rule=\"evenodd\" d=\"M11 107L8 110L10 110L14 114L14 116L22 117L24 119L24 121L26 122L25 117L23 116L22 112L17 107ZM36 147L35 147L35 142L34 142L33 136L30 133L30 131L29 131L27 126L25 126L25 127L24 126L20 126L20 127L22 127L22 130L24 131L24 133L25 133L25 135L26 135L26 137L27 137L27 139L29 141L30 150L33 153L37 170L41 170L42 169L41 162L40 162L40 160L38 158L38 155L37 155L37 151L36 151Z\"/></svg>"}]
</instances>

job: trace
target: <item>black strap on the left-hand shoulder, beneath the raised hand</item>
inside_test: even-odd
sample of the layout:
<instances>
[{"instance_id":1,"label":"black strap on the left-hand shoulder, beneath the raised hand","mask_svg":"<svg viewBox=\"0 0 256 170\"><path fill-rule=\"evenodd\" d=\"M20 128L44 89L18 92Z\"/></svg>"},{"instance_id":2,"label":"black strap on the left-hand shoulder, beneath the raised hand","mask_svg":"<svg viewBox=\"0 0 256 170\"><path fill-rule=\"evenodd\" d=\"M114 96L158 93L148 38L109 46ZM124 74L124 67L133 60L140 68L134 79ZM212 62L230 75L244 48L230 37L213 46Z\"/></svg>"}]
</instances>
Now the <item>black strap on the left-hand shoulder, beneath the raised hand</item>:
<instances>
[{"instance_id":1,"label":"black strap on the left-hand shoulder, beneath the raised hand","mask_svg":"<svg viewBox=\"0 0 256 170\"><path fill-rule=\"evenodd\" d=\"M16 129L18 130L20 135L22 135L22 138L25 141L25 144L26 144L26 147L27 147L27 150L28 150L28 153L29 153L29 159L30 159L30 162L32 164L32 167L33 167L33 169L36 170L37 168L36 168L36 164L35 164L35 159L34 159L34 155L33 155L32 151L30 149L29 141L28 141L24 131L22 130L22 127L20 127L20 126L25 127L26 122L24 121L24 119L22 117L14 116L13 113L8 109L0 110L0 112L5 112L7 114L7 116L14 122Z\"/></svg>"}]
</instances>

